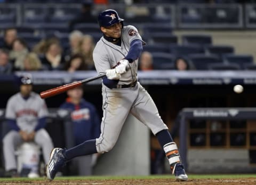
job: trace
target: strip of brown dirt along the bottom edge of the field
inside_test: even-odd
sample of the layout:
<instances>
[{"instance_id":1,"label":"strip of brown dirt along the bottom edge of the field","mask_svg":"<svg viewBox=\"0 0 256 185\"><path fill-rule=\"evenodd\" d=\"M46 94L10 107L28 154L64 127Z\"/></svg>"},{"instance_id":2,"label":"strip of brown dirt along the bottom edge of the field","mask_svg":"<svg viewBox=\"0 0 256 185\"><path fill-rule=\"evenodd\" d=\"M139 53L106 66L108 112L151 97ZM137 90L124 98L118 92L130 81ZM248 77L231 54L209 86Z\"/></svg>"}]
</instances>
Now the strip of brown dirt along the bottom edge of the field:
<instances>
[{"instance_id":1,"label":"strip of brown dirt along the bottom edge of the field","mask_svg":"<svg viewBox=\"0 0 256 185\"><path fill-rule=\"evenodd\" d=\"M155 184L256 184L255 178L249 178L249 179L191 179L187 182L176 182L173 179L129 179L129 180L54 180L54 181L0 181L0 184L20 184L20 185L27 185L27 184L38 184L38 185L155 185Z\"/></svg>"}]
</instances>

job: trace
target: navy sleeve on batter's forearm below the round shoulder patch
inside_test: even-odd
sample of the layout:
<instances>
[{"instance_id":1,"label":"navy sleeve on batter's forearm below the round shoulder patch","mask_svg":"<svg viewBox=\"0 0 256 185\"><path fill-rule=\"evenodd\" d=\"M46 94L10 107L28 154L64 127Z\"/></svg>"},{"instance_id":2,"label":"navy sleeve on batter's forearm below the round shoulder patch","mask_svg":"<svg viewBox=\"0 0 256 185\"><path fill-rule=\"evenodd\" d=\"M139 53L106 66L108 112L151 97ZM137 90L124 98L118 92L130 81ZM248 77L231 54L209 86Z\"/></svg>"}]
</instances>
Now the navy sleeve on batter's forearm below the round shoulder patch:
<instances>
[{"instance_id":1,"label":"navy sleeve on batter's forearm below the round shoulder patch","mask_svg":"<svg viewBox=\"0 0 256 185\"><path fill-rule=\"evenodd\" d=\"M128 60L130 63L135 61L139 58L142 52L142 41L140 39L135 39L131 42L130 49L128 54L126 55L125 59Z\"/></svg>"}]
</instances>

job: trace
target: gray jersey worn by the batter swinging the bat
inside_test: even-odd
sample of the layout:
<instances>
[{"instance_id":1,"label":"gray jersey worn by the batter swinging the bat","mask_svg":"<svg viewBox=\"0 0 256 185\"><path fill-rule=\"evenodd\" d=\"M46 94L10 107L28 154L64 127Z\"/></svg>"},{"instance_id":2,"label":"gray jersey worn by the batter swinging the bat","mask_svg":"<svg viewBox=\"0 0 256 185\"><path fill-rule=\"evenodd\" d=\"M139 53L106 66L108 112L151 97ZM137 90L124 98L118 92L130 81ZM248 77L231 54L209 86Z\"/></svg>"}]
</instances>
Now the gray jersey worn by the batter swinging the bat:
<instances>
[{"instance_id":1,"label":"gray jersey worn by the batter swinging the bat","mask_svg":"<svg viewBox=\"0 0 256 185\"><path fill-rule=\"evenodd\" d=\"M93 61L98 73L105 73L107 69L113 69L114 66L124 59L130 49L130 44L134 39L141 39L141 36L134 26L126 26L122 29L122 44L118 46L110 43L101 37L93 51ZM138 59L129 64L130 68L122 74L118 85L130 84L137 79Z\"/></svg>"}]
</instances>

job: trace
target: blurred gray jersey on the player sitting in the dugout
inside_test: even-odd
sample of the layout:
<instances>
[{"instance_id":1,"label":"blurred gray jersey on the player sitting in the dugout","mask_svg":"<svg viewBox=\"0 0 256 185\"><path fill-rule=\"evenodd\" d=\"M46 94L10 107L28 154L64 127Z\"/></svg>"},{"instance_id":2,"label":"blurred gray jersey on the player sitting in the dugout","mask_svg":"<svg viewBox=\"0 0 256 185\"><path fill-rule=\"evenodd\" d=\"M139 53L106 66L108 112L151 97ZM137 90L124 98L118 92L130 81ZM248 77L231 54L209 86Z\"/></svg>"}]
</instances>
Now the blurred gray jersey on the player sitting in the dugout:
<instances>
[{"instance_id":1,"label":"blurred gray jersey on the player sitting in the dugout","mask_svg":"<svg viewBox=\"0 0 256 185\"><path fill-rule=\"evenodd\" d=\"M35 129L38 119L47 114L46 104L38 94L32 92L25 100L20 93L17 93L7 102L5 117L16 120L21 130L31 132Z\"/></svg>"}]
</instances>

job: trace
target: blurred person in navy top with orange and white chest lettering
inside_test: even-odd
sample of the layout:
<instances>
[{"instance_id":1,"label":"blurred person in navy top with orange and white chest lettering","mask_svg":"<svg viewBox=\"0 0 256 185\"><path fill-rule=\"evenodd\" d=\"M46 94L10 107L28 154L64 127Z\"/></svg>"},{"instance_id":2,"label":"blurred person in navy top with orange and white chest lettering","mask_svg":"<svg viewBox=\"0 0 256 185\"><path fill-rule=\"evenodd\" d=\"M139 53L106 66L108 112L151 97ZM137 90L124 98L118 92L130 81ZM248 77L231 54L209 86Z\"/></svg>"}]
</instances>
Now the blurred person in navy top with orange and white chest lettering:
<instances>
[{"instance_id":1,"label":"blurred person in navy top with orange and white chest lettering","mask_svg":"<svg viewBox=\"0 0 256 185\"><path fill-rule=\"evenodd\" d=\"M66 147L70 148L86 140L98 138L100 119L95 106L83 98L82 86L68 90L67 94L68 98L60 108L70 112L71 123L65 124ZM95 157L97 154L74 158L69 168L70 171L78 173L72 175L91 175Z\"/></svg>"}]
</instances>

